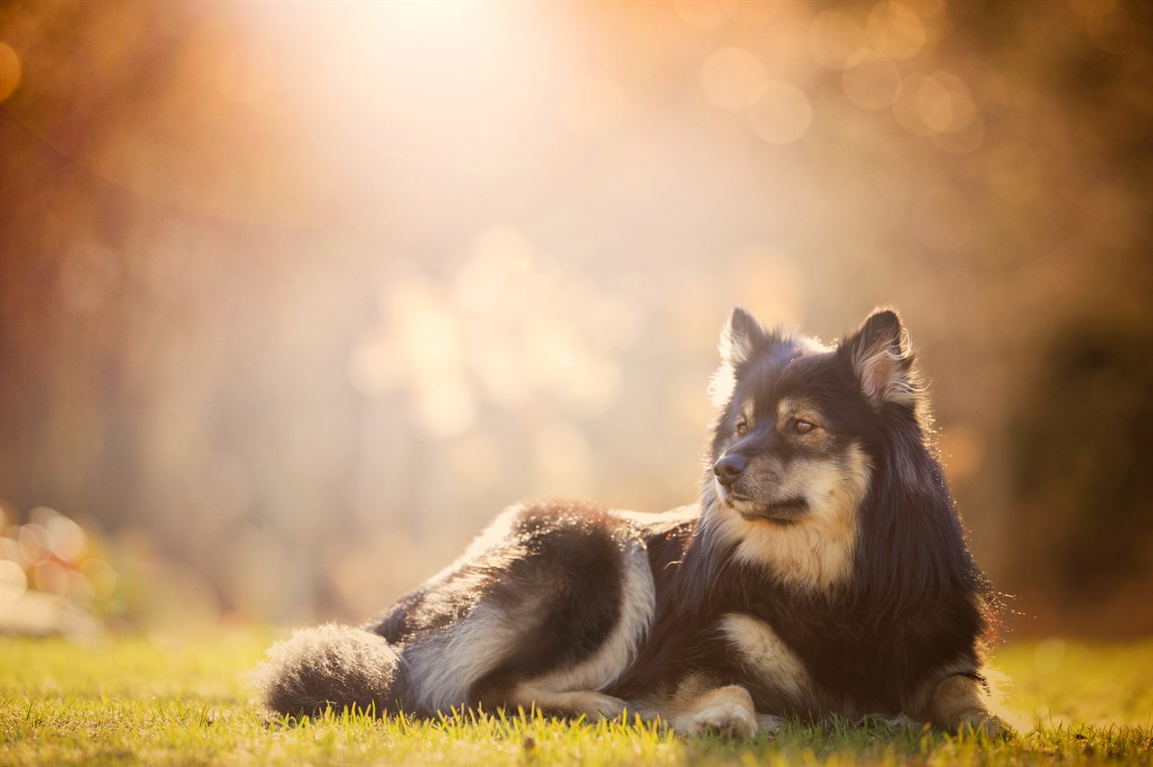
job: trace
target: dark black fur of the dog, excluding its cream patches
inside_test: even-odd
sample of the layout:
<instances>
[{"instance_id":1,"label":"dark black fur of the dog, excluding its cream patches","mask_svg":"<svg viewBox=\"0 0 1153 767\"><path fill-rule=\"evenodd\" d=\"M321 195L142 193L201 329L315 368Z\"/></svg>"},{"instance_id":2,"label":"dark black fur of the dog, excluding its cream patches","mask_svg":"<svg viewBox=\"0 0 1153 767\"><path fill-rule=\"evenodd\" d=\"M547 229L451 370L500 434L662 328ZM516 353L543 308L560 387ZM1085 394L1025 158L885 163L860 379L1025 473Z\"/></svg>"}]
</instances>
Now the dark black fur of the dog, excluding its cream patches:
<instances>
[{"instance_id":1,"label":"dark black fur of the dog, excluding its cream patches","mask_svg":"<svg viewBox=\"0 0 1153 767\"><path fill-rule=\"evenodd\" d=\"M899 318L875 312L837 348L827 349L801 336L767 333L737 310L722 337L722 356L716 386L724 405L714 425L698 514L646 519L553 504L511 511L507 530L493 545L364 626L366 637L379 635L378 646L399 658L394 674L382 673L385 660L371 678L356 678L347 663L325 656L340 658L339 651L318 653L316 637L302 632L274 648L272 661L258 671L265 704L309 714L326 701L368 701L382 712L395 711L399 701L406 711L431 714L442 704L428 703L436 698L421 692L421 675L440 658L473 674L461 688L464 699L453 705L520 704L521 683L616 658L605 648L641 603L628 597L627 584L635 591L640 583L628 575L632 556L648 565L645 583L654 598L645 614L647 630L626 643L621 661L596 685L631 707L671 716L662 706L671 705L681 684L706 678L715 686L741 685L761 714L928 719L927 704L910 711L918 690L932 691L949 675L984 678L980 646L990 592L965 546L934 456L925 392ZM819 447L776 422L782 398L804 401L820 413ZM755 424L746 427L749 409ZM744 539L731 539L719 522L725 501L713 478L717 460L747 456L746 471L753 472L756 461L771 456L774 470L787 478L805 462L847 466L845 456L853 450L867 457L871 472L853 517L847 577L822 587L798 585L769 564L739 555ZM766 481L753 477L747 487L760 492ZM770 493L774 487L769 483ZM770 501L764 508L771 511L777 507ZM785 504L799 515L796 521L771 511L755 523L764 525L758 529L806 524L807 503L798 503ZM771 626L802 663L811 689L798 696L771 669L751 665L722 631L726 615ZM444 650L467 631L482 645L489 637L508 640L485 645L491 658ZM357 652L377 646L353 644ZM302 681L309 668L311 678ZM389 689L382 690L386 676ZM454 690L447 681L438 684ZM560 712L578 713L564 706Z\"/></svg>"}]
</instances>

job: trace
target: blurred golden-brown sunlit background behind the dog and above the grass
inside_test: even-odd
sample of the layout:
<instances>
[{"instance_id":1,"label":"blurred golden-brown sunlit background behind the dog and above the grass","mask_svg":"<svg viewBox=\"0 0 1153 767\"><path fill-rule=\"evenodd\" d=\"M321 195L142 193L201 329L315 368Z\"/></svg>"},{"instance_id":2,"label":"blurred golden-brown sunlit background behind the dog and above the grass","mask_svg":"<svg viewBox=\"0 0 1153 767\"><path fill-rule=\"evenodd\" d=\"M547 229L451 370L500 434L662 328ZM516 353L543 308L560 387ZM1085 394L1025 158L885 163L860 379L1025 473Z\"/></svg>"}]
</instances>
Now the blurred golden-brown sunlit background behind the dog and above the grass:
<instances>
[{"instance_id":1,"label":"blurred golden-brown sunlit background behind the dog and above the grass","mask_svg":"<svg viewBox=\"0 0 1153 767\"><path fill-rule=\"evenodd\" d=\"M890 304L1012 636L1153 632L1151 33L6 2L0 628L360 621L515 500L691 502L734 304Z\"/></svg>"}]
</instances>

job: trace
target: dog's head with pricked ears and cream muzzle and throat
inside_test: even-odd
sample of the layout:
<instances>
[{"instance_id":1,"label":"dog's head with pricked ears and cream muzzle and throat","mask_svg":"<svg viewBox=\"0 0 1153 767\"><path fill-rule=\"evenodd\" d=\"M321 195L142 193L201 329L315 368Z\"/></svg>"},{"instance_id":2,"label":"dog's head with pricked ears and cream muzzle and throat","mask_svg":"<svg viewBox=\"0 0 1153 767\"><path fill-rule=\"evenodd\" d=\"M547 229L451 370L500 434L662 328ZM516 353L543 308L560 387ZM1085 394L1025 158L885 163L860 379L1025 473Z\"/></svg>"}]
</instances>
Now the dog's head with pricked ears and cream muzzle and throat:
<instances>
[{"instance_id":1,"label":"dog's head with pricked ears and cream muzzle and throat","mask_svg":"<svg viewBox=\"0 0 1153 767\"><path fill-rule=\"evenodd\" d=\"M894 424L918 418L921 387L900 319L874 311L829 348L767 332L737 309L721 357L704 483L713 523L738 556L785 578L843 580L877 446Z\"/></svg>"}]
</instances>

